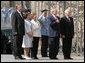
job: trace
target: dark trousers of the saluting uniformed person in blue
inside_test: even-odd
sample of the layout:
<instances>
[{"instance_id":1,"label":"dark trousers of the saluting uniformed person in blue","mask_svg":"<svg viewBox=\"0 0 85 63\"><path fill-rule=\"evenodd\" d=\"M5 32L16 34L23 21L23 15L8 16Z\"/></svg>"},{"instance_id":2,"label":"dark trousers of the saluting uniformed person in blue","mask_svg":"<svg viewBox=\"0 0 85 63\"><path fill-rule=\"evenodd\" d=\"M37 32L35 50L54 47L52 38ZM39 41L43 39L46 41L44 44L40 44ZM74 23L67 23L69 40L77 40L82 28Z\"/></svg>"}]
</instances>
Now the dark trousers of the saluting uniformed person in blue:
<instances>
[{"instance_id":1,"label":"dark trousers of the saluting uniformed person in blue","mask_svg":"<svg viewBox=\"0 0 85 63\"><path fill-rule=\"evenodd\" d=\"M42 35L41 55L47 56L48 36Z\"/></svg>"}]
</instances>

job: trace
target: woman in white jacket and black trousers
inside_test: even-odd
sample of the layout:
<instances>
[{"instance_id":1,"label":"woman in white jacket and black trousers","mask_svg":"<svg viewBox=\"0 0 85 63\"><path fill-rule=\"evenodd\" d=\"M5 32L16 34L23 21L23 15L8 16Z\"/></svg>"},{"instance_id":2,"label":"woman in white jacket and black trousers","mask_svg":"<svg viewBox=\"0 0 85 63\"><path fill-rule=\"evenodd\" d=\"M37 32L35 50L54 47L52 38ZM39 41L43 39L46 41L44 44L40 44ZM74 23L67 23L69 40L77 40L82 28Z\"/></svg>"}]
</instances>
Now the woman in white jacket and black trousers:
<instances>
[{"instance_id":1,"label":"woman in white jacket and black trousers","mask_svg":"<svg viewBox=\"0 0 85 63\"><path fill-rule=\"evenodd\" d=\"M31 57L33 59L38 59L37 58L38 44L39 44L39 39L41 37L40 23L37 21L35 13L33 13L31 17L32 17L31 24L33 32L33 47L31 48Z\"/></svg>"}]
</instances>

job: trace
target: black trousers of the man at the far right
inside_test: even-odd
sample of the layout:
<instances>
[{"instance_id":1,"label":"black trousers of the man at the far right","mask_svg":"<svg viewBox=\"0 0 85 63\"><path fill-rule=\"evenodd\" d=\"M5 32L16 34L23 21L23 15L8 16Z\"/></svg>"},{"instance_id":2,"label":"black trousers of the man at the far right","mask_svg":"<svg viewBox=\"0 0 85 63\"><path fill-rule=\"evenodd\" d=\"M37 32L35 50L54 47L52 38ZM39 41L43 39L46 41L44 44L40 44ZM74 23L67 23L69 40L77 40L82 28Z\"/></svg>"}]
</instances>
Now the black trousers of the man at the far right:
<instances>
[{"instance_id":1,"label":"black trousers of the man at the far right","mask_svg":"<svg viewBox=\"0 0 85 63\"><path fill-rule=\"evenodd\" d=\"M70 58L72 46L72 38L63 39L63 55L64 58Z\"/></svg>"}]
</instances>

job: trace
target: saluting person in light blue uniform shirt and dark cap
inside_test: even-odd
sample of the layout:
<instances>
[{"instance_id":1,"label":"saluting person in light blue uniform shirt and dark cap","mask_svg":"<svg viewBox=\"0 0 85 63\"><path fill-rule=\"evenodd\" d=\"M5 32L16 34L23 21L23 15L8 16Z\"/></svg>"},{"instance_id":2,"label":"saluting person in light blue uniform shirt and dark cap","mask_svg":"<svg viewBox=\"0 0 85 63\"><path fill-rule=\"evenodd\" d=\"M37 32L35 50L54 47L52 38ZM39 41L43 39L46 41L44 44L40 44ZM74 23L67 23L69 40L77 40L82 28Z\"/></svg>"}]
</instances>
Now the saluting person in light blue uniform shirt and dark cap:
<instances>
[{"instance_id":1,"label":"saluting person in light blue uniform shirt and dark cap","mask_svg":"<svg viewBox=\"0 0 85 63\"><path fill-rule=\"evenodd\" d=\"M42 57L48 57L48 21L47 21L47 9L42 10L42 15L38 18L41 24L41 55Z\"/></svg>"}]
</instances>

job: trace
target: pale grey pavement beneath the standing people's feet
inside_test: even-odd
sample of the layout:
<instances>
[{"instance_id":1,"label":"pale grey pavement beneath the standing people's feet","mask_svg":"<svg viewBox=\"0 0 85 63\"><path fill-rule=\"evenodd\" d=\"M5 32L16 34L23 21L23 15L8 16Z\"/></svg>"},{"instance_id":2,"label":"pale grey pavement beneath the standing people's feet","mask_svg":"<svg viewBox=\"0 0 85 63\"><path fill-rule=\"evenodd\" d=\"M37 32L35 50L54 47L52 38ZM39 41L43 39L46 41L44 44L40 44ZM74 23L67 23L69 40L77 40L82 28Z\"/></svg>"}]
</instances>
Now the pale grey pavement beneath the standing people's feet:
<instances>
[{"instance_id":1,"label":"pale grey pavement beneath the standing people's feet","mask_svg":"<svg viewBox=\"0 0 85 63\"><path fill-rule=\"evenodd\" d=\"M39 60L15 60L13 55L2 54L1 62L84 62L84 56L78 56L76 54L71 54L71 57L74 58L73 60L63 59L62 53L59 53L57 57L59 60L50 60L49 57L41 57L41 55L38 54Z\"/></svg>"}]
</instances>

